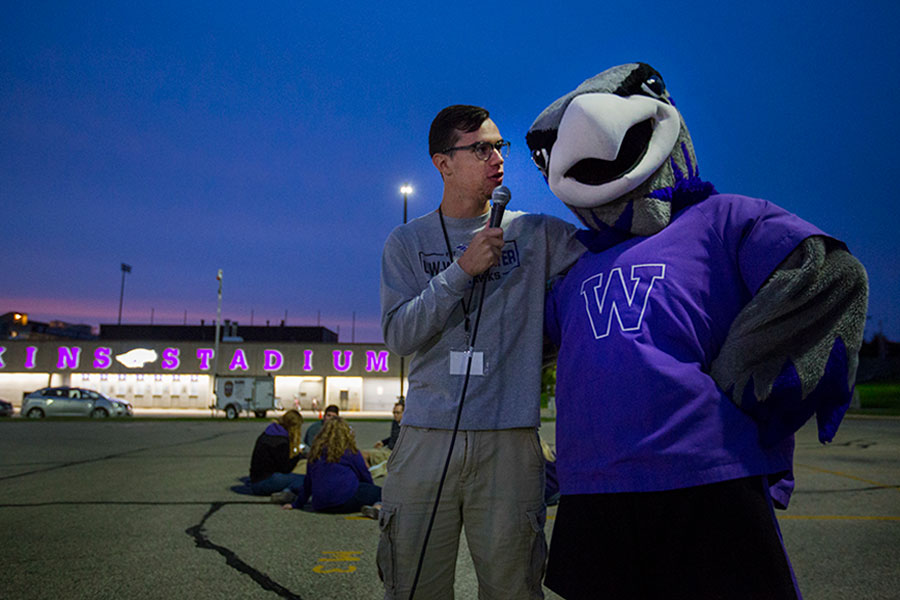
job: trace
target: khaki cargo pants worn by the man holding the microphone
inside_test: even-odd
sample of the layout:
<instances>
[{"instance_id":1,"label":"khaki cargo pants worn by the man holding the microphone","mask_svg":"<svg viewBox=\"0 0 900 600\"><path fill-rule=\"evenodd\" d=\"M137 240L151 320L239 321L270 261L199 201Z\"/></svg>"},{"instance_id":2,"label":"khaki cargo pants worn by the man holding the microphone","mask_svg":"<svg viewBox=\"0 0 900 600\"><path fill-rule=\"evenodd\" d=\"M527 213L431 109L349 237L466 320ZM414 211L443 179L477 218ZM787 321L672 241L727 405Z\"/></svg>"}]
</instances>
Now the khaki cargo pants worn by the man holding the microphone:
<instances>
[{"instance_id":1,"label":"khaki cargo pants worn by the man holding the microphone","mask_svg":"<svg viewBox=\"0 0 900 600\"><path fill-rule=\"evenodd\" d=\"M409 597L452 431L404 426L382 490L378 571ZM544 457L533 428L457 433L416 598L452 599L465 528L481 600L543 598Z\"/></svg>"}]
</instances>

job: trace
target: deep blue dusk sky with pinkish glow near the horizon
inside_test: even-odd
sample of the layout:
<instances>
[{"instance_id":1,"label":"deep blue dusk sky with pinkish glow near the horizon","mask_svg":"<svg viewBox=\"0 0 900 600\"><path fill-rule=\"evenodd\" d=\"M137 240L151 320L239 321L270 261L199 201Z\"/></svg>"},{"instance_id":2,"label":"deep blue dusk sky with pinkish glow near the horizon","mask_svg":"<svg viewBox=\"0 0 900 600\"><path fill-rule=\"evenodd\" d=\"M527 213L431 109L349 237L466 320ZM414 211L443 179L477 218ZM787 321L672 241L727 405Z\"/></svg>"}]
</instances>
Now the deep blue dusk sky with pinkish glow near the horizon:
<instances>
[{"instance_id":1,"label":"deep blue dusk sky with pinkish glow near the horizon","mask_svg":"<svg viewBox=\"0 0 900 600\"><path fill-rule=\"evenodd\" d=\"M477 104L510 209L576 222L525 132L653 65L701 175L844 240L900 340L895 2L4 2L0 313L93 326L320 322L380 342L384 240L434 210L431 119ZM355 313L355 327L353 315Z\"/></svg>"}]
</instances>

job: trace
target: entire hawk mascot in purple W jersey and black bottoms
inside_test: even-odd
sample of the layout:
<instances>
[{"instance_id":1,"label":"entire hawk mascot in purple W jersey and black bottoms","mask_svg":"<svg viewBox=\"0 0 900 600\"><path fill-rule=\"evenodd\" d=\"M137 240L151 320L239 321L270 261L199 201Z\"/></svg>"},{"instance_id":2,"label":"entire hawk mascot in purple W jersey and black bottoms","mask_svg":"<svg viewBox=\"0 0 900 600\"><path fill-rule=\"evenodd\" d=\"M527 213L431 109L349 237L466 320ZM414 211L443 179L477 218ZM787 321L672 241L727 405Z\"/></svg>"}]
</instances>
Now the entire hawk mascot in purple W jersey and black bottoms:
<instances>
[{"instance_id":1,"label":"entire hawk mascot in purple W jersey and black bottoms","mask_svg":"<svg viewBox=\"0 0 900 600\"><path fill-rule=\"evenodd\" d=\"M563 494L546 584L565 598L798 598L774 506L793 433L833 438L865 270L840 241L700 179L662 77L614 67L528 146L588 228L549 292Z\"/></svg>"}]
</instances>

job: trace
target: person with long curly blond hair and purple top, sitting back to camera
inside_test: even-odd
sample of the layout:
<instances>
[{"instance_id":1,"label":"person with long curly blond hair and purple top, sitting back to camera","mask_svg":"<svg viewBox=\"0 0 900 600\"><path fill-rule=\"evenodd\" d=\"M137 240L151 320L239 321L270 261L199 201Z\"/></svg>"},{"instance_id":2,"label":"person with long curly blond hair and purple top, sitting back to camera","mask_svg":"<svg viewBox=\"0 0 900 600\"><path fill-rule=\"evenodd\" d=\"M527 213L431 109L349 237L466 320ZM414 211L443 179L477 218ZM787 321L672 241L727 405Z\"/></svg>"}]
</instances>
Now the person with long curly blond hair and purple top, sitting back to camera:
<instances>
[{"instance_id":1,"label":"person with long curly blond hair and purple top, sitting back to camera","mask_svg":"<svg viewBox=\"0 0 900 600\"><path fill-rule=\"evenodd\" d=\"M297 498L285 509L303 508L311 497L316 512L351 513L381 500L353 430L340 417L325 422L310 449L303 485L291 491Z\"/></svg>"}]
</instances>

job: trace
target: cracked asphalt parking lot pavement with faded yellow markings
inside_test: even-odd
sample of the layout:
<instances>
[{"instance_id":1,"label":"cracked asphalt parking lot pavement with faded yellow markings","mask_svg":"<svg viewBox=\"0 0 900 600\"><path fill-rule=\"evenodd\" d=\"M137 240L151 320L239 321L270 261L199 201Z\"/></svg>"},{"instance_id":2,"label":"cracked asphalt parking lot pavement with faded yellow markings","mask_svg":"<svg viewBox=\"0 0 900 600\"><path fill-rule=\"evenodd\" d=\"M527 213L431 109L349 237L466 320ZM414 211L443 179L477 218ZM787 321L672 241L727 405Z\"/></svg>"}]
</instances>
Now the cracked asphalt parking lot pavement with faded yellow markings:
<instances>
[{"instance_id":1,"label":"cracked asphalt parking lot pavement with faded yellow markings","mask_svg":"<svg viewBox=\"0 0 900 600\"><path fill-rule=\"evenodd\" d=\"M352 425L360 447L389 429ZM380 598L377 523L283 511L231 489L264 427L0 422L0 597ZM806 598L897 597L898 456L898 420L848 420L827 447L811 427L798 435L797 492L779 521ZM456 592L466 600L477 585L464 536L461 546Z\"/></svg>"}]
</instances>

